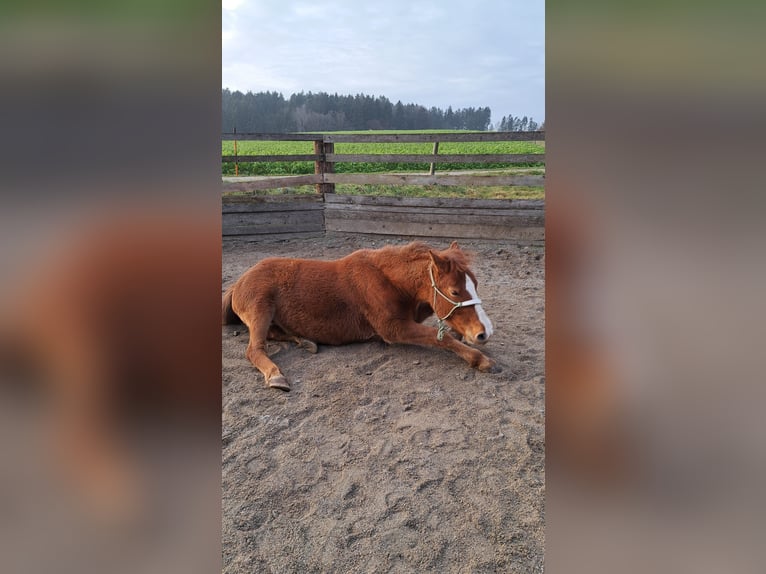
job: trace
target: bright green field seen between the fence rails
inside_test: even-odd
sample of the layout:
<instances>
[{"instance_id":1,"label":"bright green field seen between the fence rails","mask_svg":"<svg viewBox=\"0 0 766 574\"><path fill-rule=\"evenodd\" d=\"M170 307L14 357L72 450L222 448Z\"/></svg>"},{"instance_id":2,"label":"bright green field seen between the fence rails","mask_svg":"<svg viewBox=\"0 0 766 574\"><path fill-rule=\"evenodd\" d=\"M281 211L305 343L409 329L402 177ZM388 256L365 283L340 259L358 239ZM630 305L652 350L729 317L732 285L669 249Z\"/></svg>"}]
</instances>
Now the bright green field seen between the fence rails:
<instances>
[{"instance_id":1,"label":"bright green field seen between the fence rails","mask_svg":"<svg viewBox=\"0 0 766 574\"><path fill-rule=\"evenodd\" d=\"M438 133L439 130L421 131L418 133ZM370 132L338 132L364 133ZM402 133L402 131L380 131L385 133ZM221 146L222 155L234 155L234 142L224 141ZM430 154L432 143L336 143L336 154ZM293 155L312 154L314 144L311 141L239 141L238 155ZM509 141L509 142L441 142L440 154L535 154L545 153L545 142ZM336 173L401 173L427 172L429 163L336 163ZM449 171L492 170L502 174L543 175L545 164L542 162L522 164L476 164L476 163L440 163L436 166L437 173ZM270 162L270 163L239 163L239 175L301 175L314 173L314 162ZM222 164L222 175L234 175L234 163ZM408 189L412 188L412 189ZM307 187L306 191L313 188ZM368 186L341 185L336 186L338 193L356 193L372 195L400 196L439 196L439 197L481 197L481 198L542 198L543 189L540 187L482 187L456 188L448 186ZM301 190L287 190L301 191ZM282 190L285 192L285 190ZM271 193L280 193L274 190Z\"/></svg>"}]
</instances>

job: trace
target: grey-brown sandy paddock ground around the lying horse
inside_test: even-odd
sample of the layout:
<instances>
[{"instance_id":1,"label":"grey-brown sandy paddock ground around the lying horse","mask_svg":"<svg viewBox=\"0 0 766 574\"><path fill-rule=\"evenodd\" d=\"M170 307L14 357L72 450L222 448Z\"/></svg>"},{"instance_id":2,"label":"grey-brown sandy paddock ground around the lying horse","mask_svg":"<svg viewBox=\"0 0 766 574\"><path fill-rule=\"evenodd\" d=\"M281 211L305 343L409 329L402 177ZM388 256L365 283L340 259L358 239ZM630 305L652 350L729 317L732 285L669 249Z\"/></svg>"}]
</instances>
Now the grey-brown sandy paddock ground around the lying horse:
<instances>
[{"instance_id":1,"label":"grey-brown sandy paddock ground around the lying horse","mask_svg":"<svg viewBox=\"0 0 766 574\"><path fill-rule=\"evenodd\" d=\"M226 241L222 291L265 257L386 243L406 241ZM435 349L273 343L283 393L246 359L244 326L222 328L224 572L542 572L544 253L460 244L498 373Z\"/></svg>"}]
</instances>

